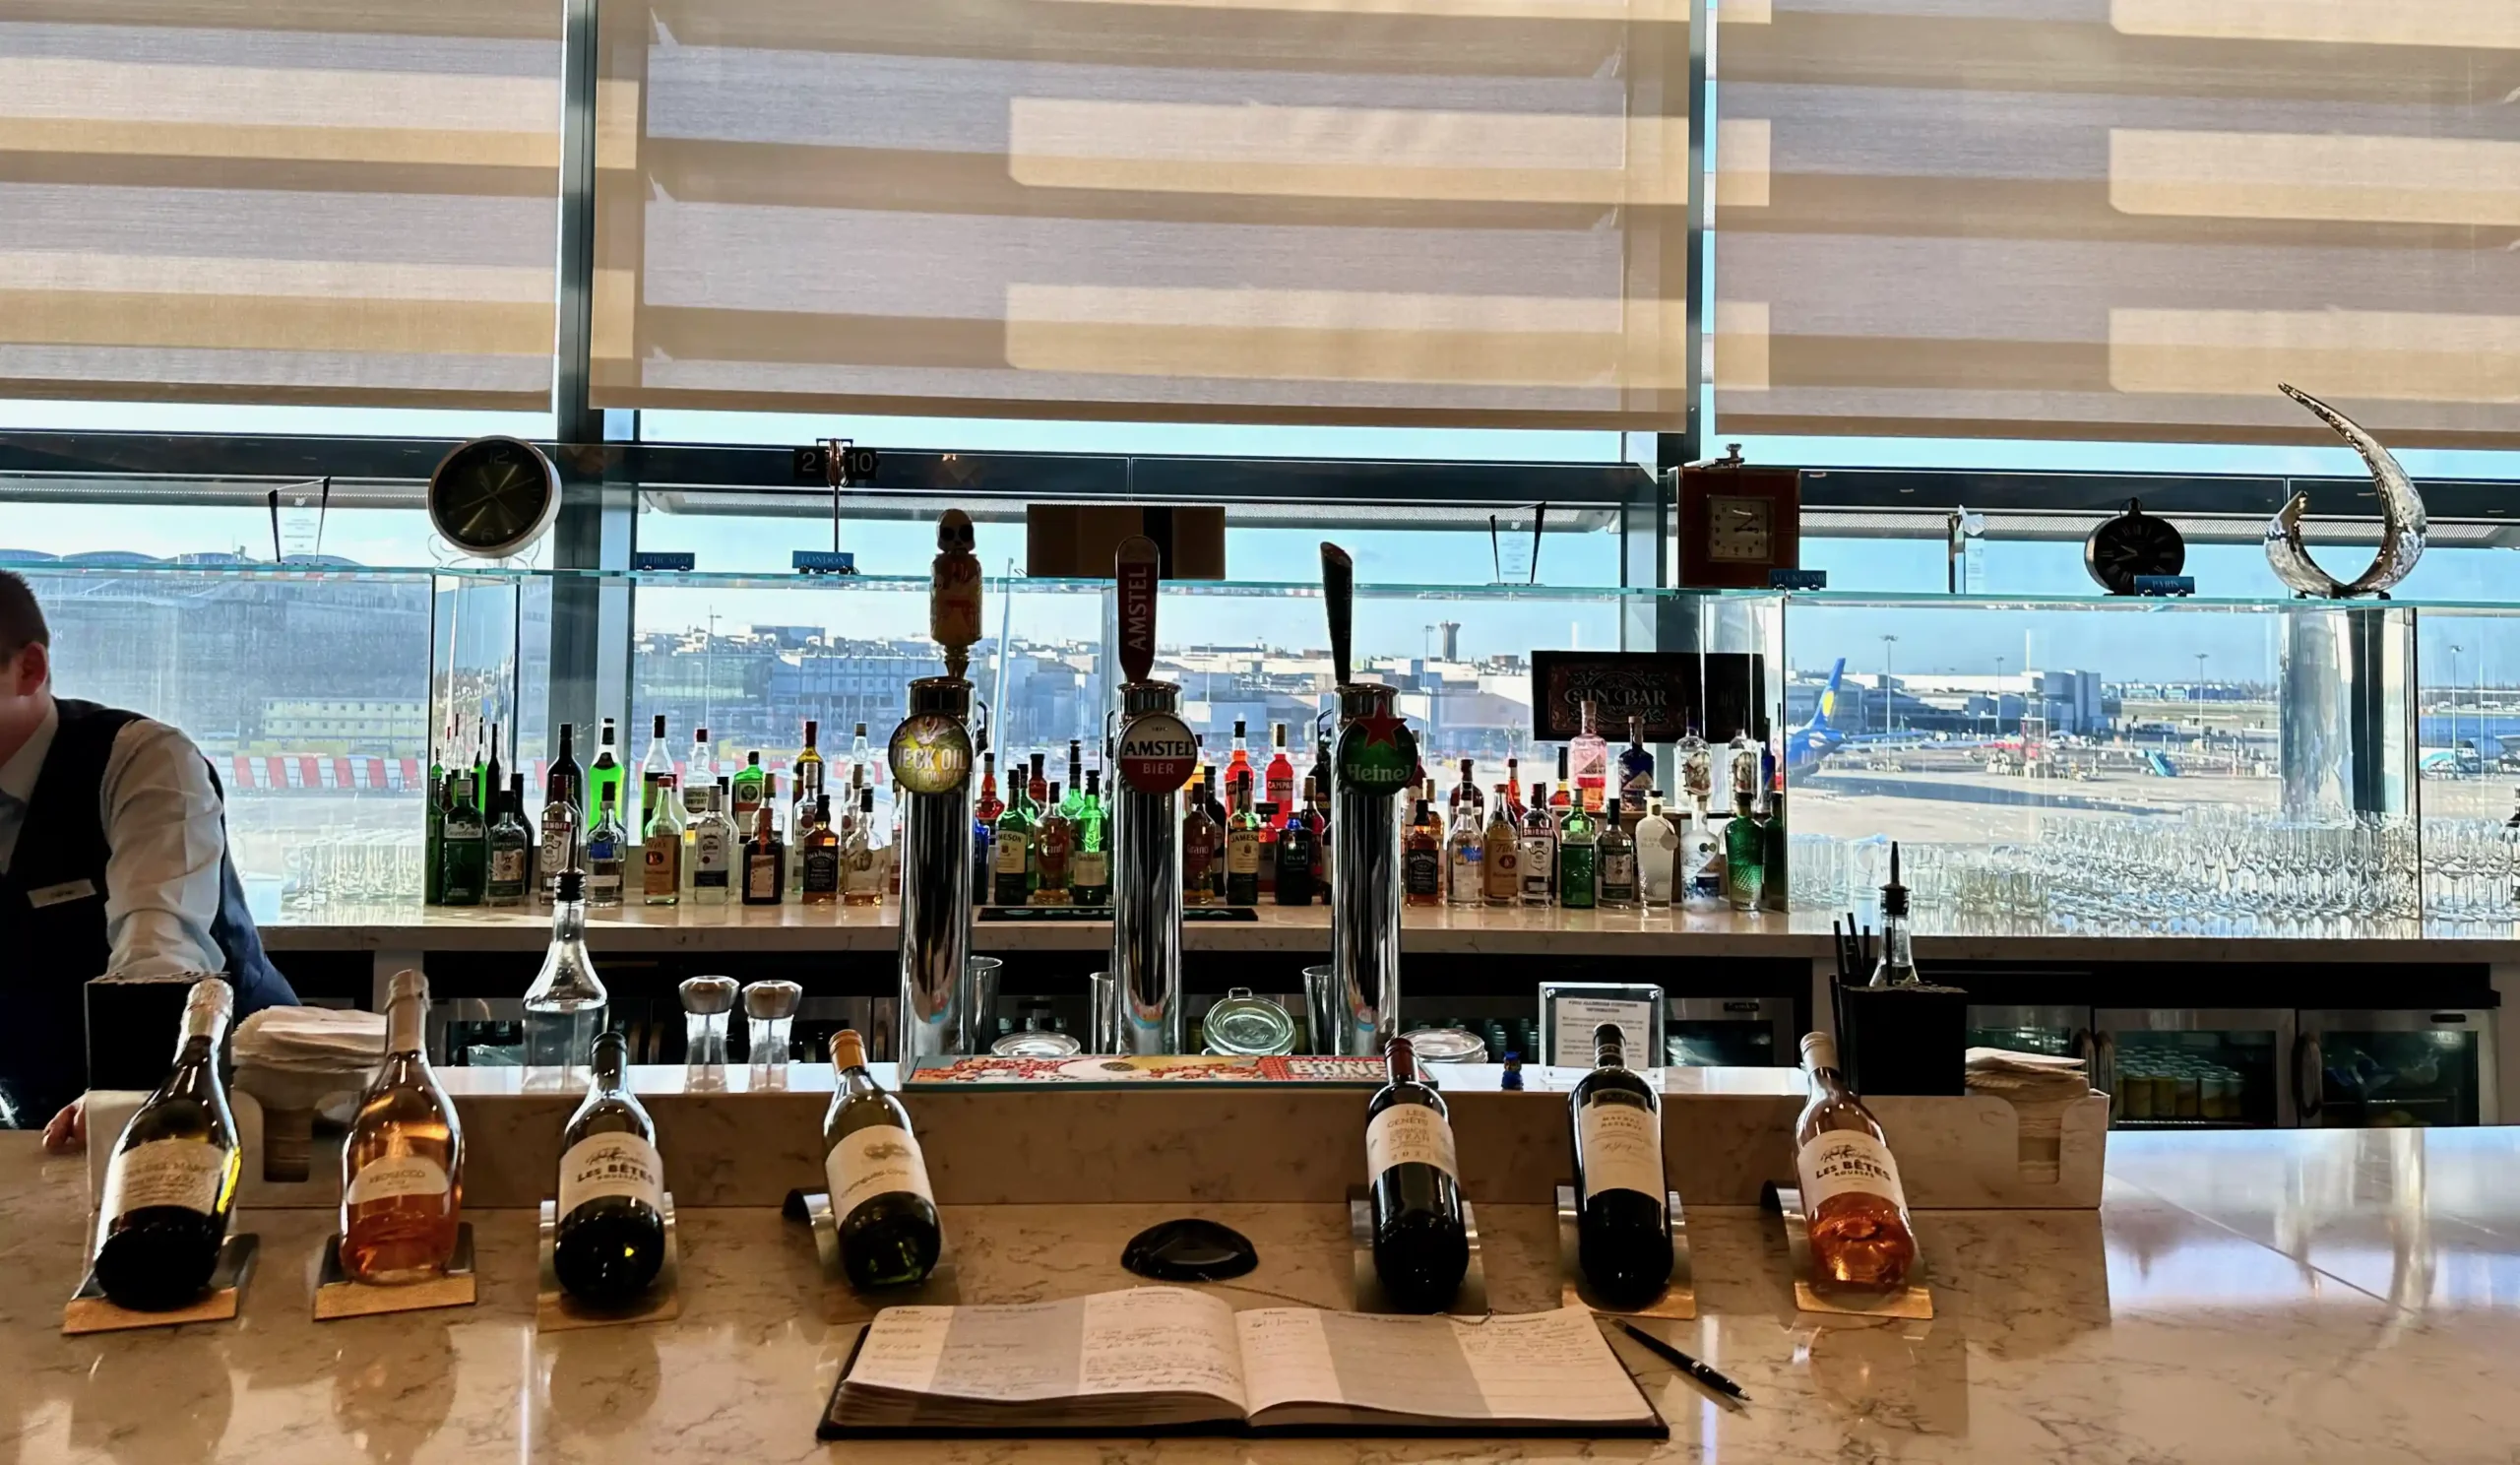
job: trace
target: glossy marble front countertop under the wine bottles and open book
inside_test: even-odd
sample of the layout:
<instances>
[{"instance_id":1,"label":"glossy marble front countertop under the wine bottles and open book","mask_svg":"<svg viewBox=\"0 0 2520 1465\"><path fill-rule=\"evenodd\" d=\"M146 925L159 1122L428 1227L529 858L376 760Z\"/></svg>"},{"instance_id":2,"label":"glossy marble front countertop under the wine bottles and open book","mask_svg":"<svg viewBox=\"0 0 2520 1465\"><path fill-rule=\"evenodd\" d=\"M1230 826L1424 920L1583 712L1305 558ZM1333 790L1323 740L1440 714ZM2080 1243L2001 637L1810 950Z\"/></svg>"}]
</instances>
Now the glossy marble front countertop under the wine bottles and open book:
<instances>
[{"instance_id":1,"label":"glossy marble front countertop under the wine bottles and open book","mask_svg":"<svg viewBox=\"0 0 2520 1465\"><path fill-rule=\"evenodd\" d=\"M1646 1442L910 1442L887 1460L2512 1460L2520 1130L2112 1137L2097 1213L1925 1213L1930 1324L1797 1316L1772 1218L1691 1210L1701 1319L1658 1324L1739 1379L1726 1407L1618 1341L1671 1420ZM0 1135L0 1462L842 1460L814 1415L844 1294L769 1210L683 1210L683 1314L537 1336L532 1218L474 1213L474 1309L315 1324L318 1213L262 1213L234 1324L63 1339L83 1162ZM948 1208L965 1301L1124 1286L1126 1236L1187 1205ZM1346 1301L1336 1205L1200 1208L1263 1253L1242 1306ZM1555 1304L1552 1220L1482 1203L1507 1311Z\"/></svg>"}]
</instances>

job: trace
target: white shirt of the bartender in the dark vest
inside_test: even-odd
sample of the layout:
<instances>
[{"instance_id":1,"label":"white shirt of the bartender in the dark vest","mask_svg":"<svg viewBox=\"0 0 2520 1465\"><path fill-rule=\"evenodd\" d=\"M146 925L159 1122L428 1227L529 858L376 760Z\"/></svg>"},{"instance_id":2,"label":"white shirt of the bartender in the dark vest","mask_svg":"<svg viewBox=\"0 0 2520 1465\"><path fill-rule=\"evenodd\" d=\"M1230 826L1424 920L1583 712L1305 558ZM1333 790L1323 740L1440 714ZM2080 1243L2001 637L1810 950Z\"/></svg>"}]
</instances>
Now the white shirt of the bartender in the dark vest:
<instances>
[{"instance_id":1,"label":"white shirt of the bartender in the dark vest","mask_svg":"<svg viewBox=\"0 0 2520 1465\"><path fill-rule=\"evenodd\" d=\"M35 774L53 751L60 711L45 709L35 736L0 764L0 872L18 852ZM224 971L209 935L219 918L219 857L227 830L202 749L181 731L139 719L113 736L96 792L106 830L106 971L176 976Z\"/></svg>"}]
</instances>

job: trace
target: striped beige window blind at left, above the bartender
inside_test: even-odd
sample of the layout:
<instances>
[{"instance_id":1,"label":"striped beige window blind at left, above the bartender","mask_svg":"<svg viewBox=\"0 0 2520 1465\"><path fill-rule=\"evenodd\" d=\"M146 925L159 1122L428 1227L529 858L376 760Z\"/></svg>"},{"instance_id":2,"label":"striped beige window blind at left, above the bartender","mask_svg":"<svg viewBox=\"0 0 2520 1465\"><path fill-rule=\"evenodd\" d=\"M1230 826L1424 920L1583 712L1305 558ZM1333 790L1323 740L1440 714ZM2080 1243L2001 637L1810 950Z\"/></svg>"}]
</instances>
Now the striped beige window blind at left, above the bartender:
<instances>
[{"instance_id":1,"label":"striped beige window blind at left, above the bartender","mask_svg":"<svg viewBox=\"0 0 2520 1465\"><path fill-rule=\"evenodd\" d=\"M547 408L559 5L0 0L0 396Z\"/></svg>"}]
</instances>

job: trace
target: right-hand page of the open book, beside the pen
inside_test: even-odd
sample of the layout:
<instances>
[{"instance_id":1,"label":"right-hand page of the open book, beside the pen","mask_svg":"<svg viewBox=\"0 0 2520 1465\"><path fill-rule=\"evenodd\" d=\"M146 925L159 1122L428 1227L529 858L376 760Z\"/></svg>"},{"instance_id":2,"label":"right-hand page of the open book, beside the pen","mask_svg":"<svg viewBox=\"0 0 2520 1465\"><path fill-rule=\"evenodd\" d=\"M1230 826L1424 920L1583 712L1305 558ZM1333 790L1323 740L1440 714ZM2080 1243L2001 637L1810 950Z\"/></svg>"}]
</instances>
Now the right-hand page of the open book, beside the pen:
<instances>
[{"instance_id":1,"label":"right-hand page of the open book, beside the pen","mask_svg":"<svg viewBox=\"0 0 2520 1465\"><path fill-rule=\"evenodd\" d=\"M1252 1417L1280 1404L1542 1422L1648 1412L1585 1309L1487 1321L1255 1309L1235 1326Z\"/></svg>"}]
</instances>

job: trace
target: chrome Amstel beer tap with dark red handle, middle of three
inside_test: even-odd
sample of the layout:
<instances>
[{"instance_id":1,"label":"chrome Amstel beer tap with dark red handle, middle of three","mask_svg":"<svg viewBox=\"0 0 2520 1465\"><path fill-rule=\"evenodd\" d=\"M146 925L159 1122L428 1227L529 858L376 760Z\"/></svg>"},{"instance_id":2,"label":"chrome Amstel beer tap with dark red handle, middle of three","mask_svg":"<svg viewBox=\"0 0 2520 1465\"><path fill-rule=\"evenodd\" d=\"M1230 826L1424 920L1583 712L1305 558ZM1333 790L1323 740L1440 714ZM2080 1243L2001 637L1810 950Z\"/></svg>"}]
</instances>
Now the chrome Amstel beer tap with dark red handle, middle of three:
<instances>
[{"instance_id":1,"label":"chrome Amstel beer tap with dark red handle, middle of three","mask_svg":"<svg viewBox=\"0 0 2520 1465\"><path fill-rule=\"evenodd\" d=\"M1111 1031L1106 1054L1177 1054L1182 1006L1182 784L1200 741L1182 721L1182 688L1154 673L1154 540L1131 535L1114 555L1121 686L1119 779L1111 809Z\"/></svg>"}]
</instances>

